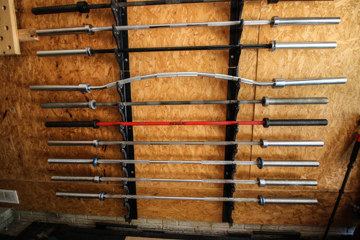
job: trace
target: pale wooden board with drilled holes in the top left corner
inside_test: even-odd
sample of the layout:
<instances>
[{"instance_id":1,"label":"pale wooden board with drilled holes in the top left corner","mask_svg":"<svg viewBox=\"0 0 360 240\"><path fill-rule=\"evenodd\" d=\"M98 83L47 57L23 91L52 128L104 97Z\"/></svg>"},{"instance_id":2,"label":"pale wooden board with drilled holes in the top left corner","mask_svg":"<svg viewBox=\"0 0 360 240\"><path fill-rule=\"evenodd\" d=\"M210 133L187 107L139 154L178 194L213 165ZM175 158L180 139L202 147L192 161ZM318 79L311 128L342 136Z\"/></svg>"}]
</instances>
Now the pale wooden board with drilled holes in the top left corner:
<instances>
[{"instance_id":1,"label":"pale wooden board with drilled holes in the top left corner","mask_svg":"<svg viewBox=\"0 0 360 240\"><path fill-rule=\"evenodd\" d=\"M0 55L20 54L14 0L0 0Z\"/></svg>"}]
</instances>

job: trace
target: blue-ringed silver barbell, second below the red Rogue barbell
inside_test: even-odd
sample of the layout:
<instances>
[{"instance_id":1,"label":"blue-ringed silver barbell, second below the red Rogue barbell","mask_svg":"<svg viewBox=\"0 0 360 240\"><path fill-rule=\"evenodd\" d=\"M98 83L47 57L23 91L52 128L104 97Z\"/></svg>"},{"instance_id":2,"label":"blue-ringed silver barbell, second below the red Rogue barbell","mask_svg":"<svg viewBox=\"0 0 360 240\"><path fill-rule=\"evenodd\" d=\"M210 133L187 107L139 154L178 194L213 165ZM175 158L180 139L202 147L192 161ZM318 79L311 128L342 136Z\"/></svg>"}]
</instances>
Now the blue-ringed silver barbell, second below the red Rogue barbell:
<instances>
[{"instance_id":1,"label":"blue-ringed silver barbell, second below the red Rogue barbell","mask_svg":"<svg viewBox=\"0 0 360 240\"><path fill-rule=\"evenodd\" d=\"M264 166L319 166L318 161L313 160L263 160L261 157L256 161L155 161L155 160L107 160L95 156L93 159L62 159L49 158L49 164L199 164L199 165L256 165L259 169Z\"/></svg>"}]
</instances>

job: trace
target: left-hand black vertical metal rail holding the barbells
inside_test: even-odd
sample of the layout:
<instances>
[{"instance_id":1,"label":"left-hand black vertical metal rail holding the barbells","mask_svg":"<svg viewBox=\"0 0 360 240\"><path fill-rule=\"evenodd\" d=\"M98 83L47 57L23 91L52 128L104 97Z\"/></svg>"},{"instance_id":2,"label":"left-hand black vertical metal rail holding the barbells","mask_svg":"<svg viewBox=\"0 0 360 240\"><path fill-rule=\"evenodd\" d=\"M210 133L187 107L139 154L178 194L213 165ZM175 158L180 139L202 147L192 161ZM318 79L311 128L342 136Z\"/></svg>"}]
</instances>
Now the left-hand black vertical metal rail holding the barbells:
<instances>
[{"instance_id":1,"label":"left-hand black vertical metal rail holding the barbells","mask_svg":"<svg viewBox=\"0 0 360 240\"><path fill-rule=\"evenodd\" d=\"M112 35L116 40L117 49L115 49L115 58L120 68L120 80L130 77L129 68L129 54L119 52L118 49L128 48L128 35L127 31L117 31L115 26L127 25L127 9L120 8L116 5L117 2L126 2L126 0L111 1L111 11L115 18L116 25L112 25ZM117 91L121 98L121 102L131 102L131 88L130 84L124 85L118 84ZM123 122L132 122L131 106L118 105L118 111L123 119ZM133 141L132 126L119 126L119 132L123 136L124 141ZM132 145L120 145L120 151L124 154L124 159L134 159L134 146ZM135 178L135 164L124 164L121 169L124 171L126 177ZM136 183L135 182L123 182L123 187L126 194L136 195ZM124 199L124 206L127 208L127 214L125 215L125 221L130 223L131 220L138 218L136 199Z\"/></svg>"}]
</instances>

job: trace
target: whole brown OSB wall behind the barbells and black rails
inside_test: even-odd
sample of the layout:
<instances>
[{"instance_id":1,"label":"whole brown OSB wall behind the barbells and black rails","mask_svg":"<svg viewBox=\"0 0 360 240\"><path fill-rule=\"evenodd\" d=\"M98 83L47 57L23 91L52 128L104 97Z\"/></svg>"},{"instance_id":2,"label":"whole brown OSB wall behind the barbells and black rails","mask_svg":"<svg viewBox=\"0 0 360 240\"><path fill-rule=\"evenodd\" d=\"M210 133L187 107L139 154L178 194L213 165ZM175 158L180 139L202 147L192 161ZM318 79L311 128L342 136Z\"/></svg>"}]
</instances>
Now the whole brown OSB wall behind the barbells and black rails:
<instances>
[{"instance_id":1,"label":"whole brown OSB wall behind the barbells and black rails","mask_svg":"<svg viewBox=\"0 0 360 240\"><path fill-rule=\"evenodd\" d=\"M93 0L91 3L102 2ZM108 9L91 10L90 14L67 13L33 16L31 7L71 4L72 0L18 1L18 28L73 27L84 24L113 24ZM272 140L324 140L322 148L239 147L236 160L297 159L318 160L317 168L265 168L239 166L236 179L294 178L316 179L315 187L266 187L237 185L234 197L264 196L316 197L317 205L266 205L236 203L235 222L253 224L325 225L330 216L337 191L344 176L352 142L357 133L359 101L359 12L356 0L319 2L247 1L244 19L279 17L341 17L336 26L246 26L241 43L256 44L278 41L337 41L334 50L244 50L240 57L240 76L257 81L277 78L307 78L346 76L345 85L289 87L274 90L243 85L239 99L269 97L328 97L327 105L269 106L242 105L238 120L281 118L327 118L326 127L241 126L237 140L267 138ZM160 24L230 19L230 3L202 3L168 6L132 7L128 9L128 24ZM229 27L198 27L183 29L152 29L129 31L129 47L198 46L228 44ZM119 121L116 108L42 110L43 102L119 101L115 89L79 92L30 92L30 85L70 84L89 82L103 85L118 79L118 65L113 55L66 56L39 58L38 50L76 49L91 46L114 48L111 33L40 37L38 42L21 44L20 56L0 58L1 145L0 188L18 190L17 210L47 211L73 214L123 216L126 209L121 200L56 199L56 191L122 193L121 185L96 185L51 182L52 175L123 176L120 166L49 165L49 157L120 159L116 146L49 147L47 140L120 140L116 127L101 129L46 129L45 121L81 121L100 119ZM161 72L208 72L227 74L228 51L184 51L130 54L131 76ZM222 100L226 99L227 82L210 78L180 77L149 79L132 83L133 101ZM134 121L218 121L225 120L226 106L138 106L133 108ZM150 126L134 127L134 140L142 141L222 141L223 126ZM221 146L135 146L136 159L151 160L223 160ZM136 165L137 177L221 179L223 166ZM359 167L353 169L340 205L336 224L351 224L348 220L350 202L359 201ZM167 196L222 196L222 185L190 183L137 183L138 194ZM7 205L7 204L1 204ZM138 200L138 217L221 222L222 203L194 201Z\"/></svg>"}]
</instances>

